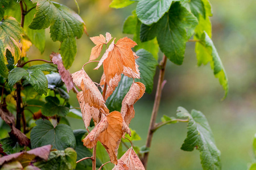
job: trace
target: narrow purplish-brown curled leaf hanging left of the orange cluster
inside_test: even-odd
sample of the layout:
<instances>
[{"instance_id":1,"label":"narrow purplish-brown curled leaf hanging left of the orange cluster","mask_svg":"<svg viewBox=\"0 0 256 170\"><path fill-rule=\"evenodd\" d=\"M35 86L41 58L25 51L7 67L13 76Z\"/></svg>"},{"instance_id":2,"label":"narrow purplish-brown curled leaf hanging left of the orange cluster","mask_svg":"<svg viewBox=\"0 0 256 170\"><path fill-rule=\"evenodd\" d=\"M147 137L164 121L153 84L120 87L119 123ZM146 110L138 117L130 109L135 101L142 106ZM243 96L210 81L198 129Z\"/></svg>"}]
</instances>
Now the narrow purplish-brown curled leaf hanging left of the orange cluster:
<instances>
[{"instance_id":1,"label":"narrow purplish-brown curled leaf hanging left of the orange cluster","mask_svg":"<svg viewBox=\"0 0 256 170\"><path fill-rule=\"evenodd\" d=\"M67 91L69 92L70 90L72 90L73 87L74 87L74 89L76 89L75 85L73 83L71 74L69 73L68 70L65 69L65 67L63 65L63 61L62 61L60 54L52 52L52 54L50 55L50 58L51 58L51 61L55 65L57 65L57 67L59 69L59 74L60 74L61 80L63 80L63 82L65 83L65 85L67 87Z\"/></svg>"}]
</instances>

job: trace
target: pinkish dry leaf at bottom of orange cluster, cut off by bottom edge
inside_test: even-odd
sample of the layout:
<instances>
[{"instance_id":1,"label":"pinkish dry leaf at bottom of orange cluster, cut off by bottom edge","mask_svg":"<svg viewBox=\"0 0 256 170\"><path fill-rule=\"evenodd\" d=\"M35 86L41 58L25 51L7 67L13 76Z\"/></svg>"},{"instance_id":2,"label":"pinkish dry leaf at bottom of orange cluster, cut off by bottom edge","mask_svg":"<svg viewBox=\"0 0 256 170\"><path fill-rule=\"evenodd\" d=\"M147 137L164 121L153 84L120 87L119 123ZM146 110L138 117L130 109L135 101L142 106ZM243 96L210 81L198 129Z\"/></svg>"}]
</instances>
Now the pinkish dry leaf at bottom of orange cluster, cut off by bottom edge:
<instances>
[{"instance_id":1,"label":"pinkish dry leaf at bottom of orange cluster, cut off by bottom edge","mask_svg":"<svg viewBox=\"0 0 256 170\"><path fill-rule=\"evenodd\" d=\"M129 167L129 170L144 170L145 169L141 160L139 159L139 157L133 150L133 147L130 147L129 150L127 150L125 152L125 154L123 154L123 156L119 160L122 160L123 163L125 163ZM117 165L115 165L114 169L116 167L117 167ZM115 170L117 170L117 169L115 169Z\"/></svg>"}]
</instances>

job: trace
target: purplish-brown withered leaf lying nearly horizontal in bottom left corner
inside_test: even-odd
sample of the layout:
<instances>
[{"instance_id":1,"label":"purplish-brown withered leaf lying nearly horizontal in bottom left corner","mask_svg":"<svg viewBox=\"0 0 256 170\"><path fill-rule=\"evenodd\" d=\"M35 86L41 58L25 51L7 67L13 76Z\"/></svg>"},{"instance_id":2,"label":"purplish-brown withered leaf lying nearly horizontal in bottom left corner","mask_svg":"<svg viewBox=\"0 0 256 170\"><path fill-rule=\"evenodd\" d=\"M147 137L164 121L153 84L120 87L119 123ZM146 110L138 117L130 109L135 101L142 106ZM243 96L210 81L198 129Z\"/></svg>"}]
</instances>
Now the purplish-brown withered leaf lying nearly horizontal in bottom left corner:
<instances>
[{"instance_id":1,"label":"purplish-brown withered leaf lying nearly horizontal in bottom left corner","mask_svg":"<svg viewBox=\"0 0 256 170\"><path fill-rule=\"evenodd\" d=\"M0 165L2 165L5 162L9 162L10 160L13 160L13 159L22 161L23 158L26 158L27 160L31 161L31 160L35 159L36 157L39 157L44 160L47 160L48 156L49 156L49 152L51 151L51 147L52 147L51 145L46 145L46 146L35 148L35 149L27 151L27 152L23 151L23 152L18 152L18 153L11 154L11 155L3 156L2 158L0 158Z\"/></svg>"}]
</instances>

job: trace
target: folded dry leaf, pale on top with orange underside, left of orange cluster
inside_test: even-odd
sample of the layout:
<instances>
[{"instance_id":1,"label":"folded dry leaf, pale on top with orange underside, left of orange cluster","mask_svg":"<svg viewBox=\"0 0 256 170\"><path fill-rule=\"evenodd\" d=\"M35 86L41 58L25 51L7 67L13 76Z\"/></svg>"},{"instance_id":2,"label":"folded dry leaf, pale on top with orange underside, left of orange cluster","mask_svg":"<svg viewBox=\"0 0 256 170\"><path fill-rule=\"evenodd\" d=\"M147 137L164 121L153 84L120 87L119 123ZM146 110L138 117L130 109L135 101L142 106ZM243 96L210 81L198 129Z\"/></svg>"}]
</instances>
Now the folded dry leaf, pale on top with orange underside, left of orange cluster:
<instances>
[{"instance_id":1,"label":"folded dry leaf, pale on top with orange underside, left of orange cluster","mask_svg":"<svg viewBox=\"0 0 256 170\"><path fill-rule=\"evenodd\" d=\"M85 103L88 103L90 107L97 108L98 110L103 109L105 113L109 113L101 92L95 86L92 79L85 73L84 69L73 73L72 78L76 86L82 90Z\"/></svg>"}]
</instances>

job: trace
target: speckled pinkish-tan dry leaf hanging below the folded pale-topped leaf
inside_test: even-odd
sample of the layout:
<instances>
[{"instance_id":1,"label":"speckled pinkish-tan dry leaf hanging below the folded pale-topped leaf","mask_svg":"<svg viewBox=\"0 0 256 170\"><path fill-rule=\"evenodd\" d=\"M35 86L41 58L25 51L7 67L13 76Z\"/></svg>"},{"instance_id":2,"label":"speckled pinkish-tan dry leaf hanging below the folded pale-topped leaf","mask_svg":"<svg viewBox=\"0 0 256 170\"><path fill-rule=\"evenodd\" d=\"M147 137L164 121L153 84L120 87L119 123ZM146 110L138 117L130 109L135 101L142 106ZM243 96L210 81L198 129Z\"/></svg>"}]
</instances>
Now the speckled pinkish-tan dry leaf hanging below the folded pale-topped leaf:
<instances>
[{"instance_id":1,"label":"speckled pinkish-tan dry leaf hanging below the folded pale-topped leaf","mask_svg":"<svg viewBox=\"0 0 256 170\"><path fill-rule=\"evenodd\" d=\"M84 121L85 128L87 129L90 125L90 120L93 118L94 122L97 122L99 110L90 107L88 103L85 103L84 101L84 95L82 94L82 91L80 91L77 94L77 100L79 101L79 105L82 112L82 120Z\"/></svg>"}]
</instances>

